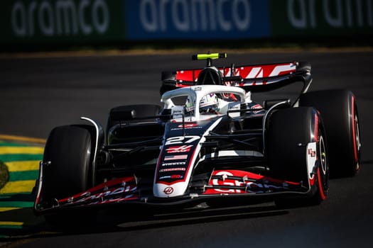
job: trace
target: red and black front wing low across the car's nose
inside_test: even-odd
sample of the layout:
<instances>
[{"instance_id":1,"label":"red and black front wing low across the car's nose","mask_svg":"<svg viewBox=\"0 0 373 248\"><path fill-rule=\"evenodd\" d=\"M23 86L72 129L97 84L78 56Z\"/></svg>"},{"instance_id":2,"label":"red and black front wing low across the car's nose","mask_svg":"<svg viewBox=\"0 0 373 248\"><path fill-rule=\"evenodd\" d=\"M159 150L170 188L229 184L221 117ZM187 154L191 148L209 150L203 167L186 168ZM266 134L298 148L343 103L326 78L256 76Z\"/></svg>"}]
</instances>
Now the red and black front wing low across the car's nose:
<instances>
[{"instance_id":1,"label":"red and black front wing low across the car's nose","mask_svg":"<svg viewBox=\"0 0 373 248\"><path fill-rule=\"evenodd\" d=\"M40 163L40 176L36 189L34 210L37 214L82 207L109 208L119 204L188 205L188 203L197 204L219 198L247 198L247 205L249 205L250 199L273 201L287 196L310 196L310 186L303 185L302 182L283 181L248 171L228 169L212 171L208 184L203 185L200 192L186 193L184 196L156 198L149 193L143 193L149 191L139 186L136 176L125 176L104 182L74 196L45 203L42 163ZM166 190L172 191L173 188L169 186Z\"/></svg>"}]
</instances>

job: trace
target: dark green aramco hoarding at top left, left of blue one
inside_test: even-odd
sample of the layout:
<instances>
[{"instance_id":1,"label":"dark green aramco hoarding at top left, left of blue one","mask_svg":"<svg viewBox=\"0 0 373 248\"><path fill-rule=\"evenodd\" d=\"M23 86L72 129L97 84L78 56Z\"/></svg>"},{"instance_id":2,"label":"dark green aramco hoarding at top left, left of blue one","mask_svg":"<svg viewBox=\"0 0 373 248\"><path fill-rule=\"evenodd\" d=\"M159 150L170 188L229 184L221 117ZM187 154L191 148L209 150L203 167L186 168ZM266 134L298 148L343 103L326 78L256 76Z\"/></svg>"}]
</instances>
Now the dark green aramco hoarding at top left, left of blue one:
<instances>
[{"instance_id":1,"label":"dark green aramco hoarding at top left, left of blue one","mask_svg":"<svg viewBox=\"0 0 373 248\"><path fill-rule=\"evenodd\" d=\"M123 2L114 0L4 0L1 41L60 43L124 40Z\"/></svg>"}]
</instances>

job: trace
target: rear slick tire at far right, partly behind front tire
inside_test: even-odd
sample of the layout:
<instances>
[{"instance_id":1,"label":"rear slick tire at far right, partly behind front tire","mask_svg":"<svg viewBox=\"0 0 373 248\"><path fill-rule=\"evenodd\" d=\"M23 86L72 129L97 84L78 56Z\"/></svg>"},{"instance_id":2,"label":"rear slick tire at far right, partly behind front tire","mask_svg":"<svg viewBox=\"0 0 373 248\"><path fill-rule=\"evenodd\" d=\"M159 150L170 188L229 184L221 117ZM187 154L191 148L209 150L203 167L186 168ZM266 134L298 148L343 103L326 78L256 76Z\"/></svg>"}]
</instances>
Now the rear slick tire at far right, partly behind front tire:
<instances>
[{"instance_id":1,"label":"rear slick tire at far right, partly behind front tire","mask_svg":"<svg viewBox=\"0 0 373 248\"><path fill-rule=\"evenodd\" d=\"M313 106L323 116L328 140L330 176L355 176L360 169L360 127L357 100L344 89L310 91L299 106Z\"/></svg>"}]
</instances>

